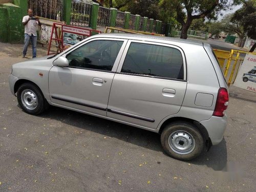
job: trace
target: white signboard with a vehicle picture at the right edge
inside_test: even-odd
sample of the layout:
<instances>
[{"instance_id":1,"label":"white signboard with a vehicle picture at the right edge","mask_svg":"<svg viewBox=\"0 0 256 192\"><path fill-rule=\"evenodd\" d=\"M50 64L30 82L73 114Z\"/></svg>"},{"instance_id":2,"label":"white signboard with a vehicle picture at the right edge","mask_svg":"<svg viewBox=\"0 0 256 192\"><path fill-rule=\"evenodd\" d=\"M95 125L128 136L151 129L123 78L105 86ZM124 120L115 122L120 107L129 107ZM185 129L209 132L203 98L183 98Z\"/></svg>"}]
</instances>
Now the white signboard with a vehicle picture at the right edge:
<instances>
[{"instance_id":1,"label":"white signboard with a vehicle picture at the right edge","mask_svg":"<svg viewBox=\"0 0 256 192\"><path fill-rule=\"evenodd\" d=\"M233 85L256 93L256 55L245 56Z\"/></svg>"}]
</instances>

